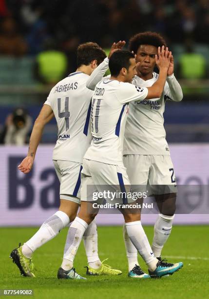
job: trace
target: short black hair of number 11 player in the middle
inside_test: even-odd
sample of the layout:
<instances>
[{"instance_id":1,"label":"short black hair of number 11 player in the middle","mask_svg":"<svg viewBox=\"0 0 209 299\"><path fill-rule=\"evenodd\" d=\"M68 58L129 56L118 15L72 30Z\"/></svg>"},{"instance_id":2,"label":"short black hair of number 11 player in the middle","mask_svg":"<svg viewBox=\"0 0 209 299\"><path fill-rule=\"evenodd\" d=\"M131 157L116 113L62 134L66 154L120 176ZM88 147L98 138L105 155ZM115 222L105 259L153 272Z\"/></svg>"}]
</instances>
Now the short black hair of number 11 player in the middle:
<instances>
[{"instance_id":1,"label":"short black hair of number 11 player in the middle","mask_svg":"<svg viewBox=\"0 0 209 299\"><path fill-rule=\"evenodd\" d=\"M109 60L109 68L111 75L118 76L121 68L129 69L131 65L130 59L135 58L132 52L129 51L116 51L113 53Z\"/></svg>"}]
</instances>

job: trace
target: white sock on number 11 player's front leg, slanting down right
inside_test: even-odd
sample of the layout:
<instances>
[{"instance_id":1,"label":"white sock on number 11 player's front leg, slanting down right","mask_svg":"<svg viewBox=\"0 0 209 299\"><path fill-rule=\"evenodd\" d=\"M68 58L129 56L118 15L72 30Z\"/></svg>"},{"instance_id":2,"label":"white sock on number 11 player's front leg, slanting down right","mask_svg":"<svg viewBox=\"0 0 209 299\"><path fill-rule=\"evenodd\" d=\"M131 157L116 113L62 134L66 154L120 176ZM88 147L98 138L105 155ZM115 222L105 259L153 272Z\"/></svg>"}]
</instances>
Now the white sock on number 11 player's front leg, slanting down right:
<instances>
[{"instance_id":1,"label":"white sock on number 11 player's front leg, slanting down right","mask_svg":"<svg viewBox=\"0 0 209 299\"><path fill-rule=\"evenodd\" d=\"M144 259L148 269L154 271L158 259L154 256L148 238L141 225L141 221L133 221L125 223L127 233L137 249L140 256Z\"/></svg>"}]
</instances>

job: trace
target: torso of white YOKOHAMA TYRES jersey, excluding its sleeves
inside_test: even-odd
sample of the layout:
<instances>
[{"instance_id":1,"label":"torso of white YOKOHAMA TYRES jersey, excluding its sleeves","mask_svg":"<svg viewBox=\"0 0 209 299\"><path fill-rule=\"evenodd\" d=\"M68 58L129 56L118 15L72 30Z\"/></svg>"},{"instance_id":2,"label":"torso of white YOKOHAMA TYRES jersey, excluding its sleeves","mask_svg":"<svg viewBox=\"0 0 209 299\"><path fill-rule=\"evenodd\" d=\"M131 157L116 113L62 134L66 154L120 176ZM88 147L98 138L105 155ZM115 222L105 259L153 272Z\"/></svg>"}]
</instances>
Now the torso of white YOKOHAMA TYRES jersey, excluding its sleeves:
<instances>
[{"instance_id":1,"label":"torso of white YOKOHAMA TYRES jersey, excluding its sleeves","mask_svg":"<svg viewBox=\"0 0 209 299\"><path fill-rule=\"evenodd\" d=\"M157 78L158 74L155 72L152 79L147 81L135 76L132 84L149 87ZM124 154L170 155L163 117L165 100L169 98L168 91L169 85L166 82L160 98L130 103L124 137Z\"/></svg>"}]
</instances>

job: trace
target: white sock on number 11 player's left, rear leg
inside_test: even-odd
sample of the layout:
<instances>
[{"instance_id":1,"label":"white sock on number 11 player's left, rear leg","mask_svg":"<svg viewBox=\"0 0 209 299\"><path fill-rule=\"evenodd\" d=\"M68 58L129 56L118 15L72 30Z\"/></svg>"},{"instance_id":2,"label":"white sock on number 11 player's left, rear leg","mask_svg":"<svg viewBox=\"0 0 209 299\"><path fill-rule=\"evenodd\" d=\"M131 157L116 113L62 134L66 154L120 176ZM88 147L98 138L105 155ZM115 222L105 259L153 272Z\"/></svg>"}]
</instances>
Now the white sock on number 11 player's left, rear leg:
<instances>
[{"instance_id":1,"label":"white sock on number 11 player's left, rear leg","mask_svg":"<svg viewBox=\"0 0 209 299\"><path fill-rule=\"evenodd\" d=\"M80 245L81 239L87 227L88 224L79 217L76 217L72 222L66 238L64 256L61 265L62 269L67 271L73 267L73 261L76 256L78 246Z\"/></svg>"}]
</instances>

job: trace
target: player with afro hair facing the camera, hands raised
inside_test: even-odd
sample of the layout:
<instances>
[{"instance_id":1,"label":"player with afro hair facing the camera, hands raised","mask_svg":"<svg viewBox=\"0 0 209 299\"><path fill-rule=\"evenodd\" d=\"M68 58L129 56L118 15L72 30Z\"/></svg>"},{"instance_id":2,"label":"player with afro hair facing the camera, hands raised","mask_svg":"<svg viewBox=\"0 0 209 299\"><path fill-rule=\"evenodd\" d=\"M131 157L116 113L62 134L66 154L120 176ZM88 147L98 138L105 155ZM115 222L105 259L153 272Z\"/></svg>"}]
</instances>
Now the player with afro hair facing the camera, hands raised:
<instances>
[{"instance_id":1,"label":"player with afro hair facing the camera, hands raised","mask_svg":"<svg viewBox=\"0 0 209 299\"><path fill-rule=\"evenodd\" d=\"M158 74L154 72L155 55L159 46L166 47L166 42L155 32L138 33L130 39L129 49L135 54L137 63L137 74L133 78L133 85L150 87L156 82ZM107 69L106 59L92 73L87 81L87 87L94 89ZM143 193L149 190L149 194L154 195L160 212L154 225L152 242L153 254L159 260L161 260L162 248L171 234L176 201L176 180L166 141L163 117L167 100L179 102L183 98L181 86L175 79L173 70L174 61L171 56L167 80L161 96L129 103L123 150L123 163L133 191ZM137 250L127 234L125 225L124 241L129 275L143 277L137 275L142 274L137 261Z\"/></svg>"}]
</instances>

